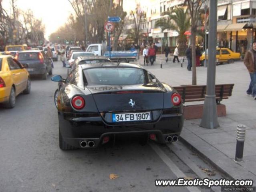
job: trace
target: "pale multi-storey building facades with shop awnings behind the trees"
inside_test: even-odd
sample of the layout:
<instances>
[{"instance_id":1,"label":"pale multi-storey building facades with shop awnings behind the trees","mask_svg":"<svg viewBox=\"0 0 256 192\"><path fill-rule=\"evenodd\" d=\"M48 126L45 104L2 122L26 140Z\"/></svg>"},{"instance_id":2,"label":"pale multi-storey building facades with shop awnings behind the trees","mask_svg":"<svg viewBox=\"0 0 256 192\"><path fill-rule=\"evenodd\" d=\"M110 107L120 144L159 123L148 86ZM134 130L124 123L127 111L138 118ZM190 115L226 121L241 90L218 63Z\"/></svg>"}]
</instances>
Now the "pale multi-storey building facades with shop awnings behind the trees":
<instances>
[{"instance_id":1,"label":"pale multi-storey building facades with shop awnings behind the trees","mask_svg":"<svg viewBox=\"0 0 256 192\"><path fill-rule=\"evenodd\" d=\"M162 31L161 28L155 27L155 22L165 17L163 12L171 11L177 6L183 6L184 2L185 0L148 0L147 3L137 1L134 10L130 11L139 9L145 13L140 26L144 38L140 38L139 44L156 42L158 46L167 44L170 47L175 47L178 33L172 30ZM198 22L198 30L202 29L202 33L204 33L204 20L206 18L204 6L202 6L199 14L202 14L202 19ZM218 0L217 21L218 46L227 47L244 54L256 38L256 0ZM125 42L125 36L129 30L135 27L134 23L131 14L127 14L124 32L120 40ZM197 44L204 44L204 34L198 35L196 41Z\"/></svg>"}]
</instances>

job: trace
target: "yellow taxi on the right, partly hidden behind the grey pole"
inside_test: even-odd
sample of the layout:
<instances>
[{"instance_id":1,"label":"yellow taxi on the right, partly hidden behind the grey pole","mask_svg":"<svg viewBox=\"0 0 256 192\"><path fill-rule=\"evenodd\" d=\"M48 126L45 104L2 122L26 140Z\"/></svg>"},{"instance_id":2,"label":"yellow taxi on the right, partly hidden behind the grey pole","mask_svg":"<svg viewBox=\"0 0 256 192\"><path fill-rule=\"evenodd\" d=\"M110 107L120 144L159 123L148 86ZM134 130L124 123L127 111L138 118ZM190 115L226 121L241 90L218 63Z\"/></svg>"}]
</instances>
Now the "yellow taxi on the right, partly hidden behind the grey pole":
<instances>
[{"instance_id":1,"label":"yellow taxi on the right, partly hidden behind the grey pole","mask_svg":"<svg viewBox=\"0 0 256 192\"><path fill-rule=\"evenodd\" d=\"M208 57L208 55L207 55ZM233 52L228 48L216 48L216 60L217 63L234 63L235 60L240 60L240 53ZM205 54L200 57L201 64L204 64Z\"/></svg>"}]
</instances>

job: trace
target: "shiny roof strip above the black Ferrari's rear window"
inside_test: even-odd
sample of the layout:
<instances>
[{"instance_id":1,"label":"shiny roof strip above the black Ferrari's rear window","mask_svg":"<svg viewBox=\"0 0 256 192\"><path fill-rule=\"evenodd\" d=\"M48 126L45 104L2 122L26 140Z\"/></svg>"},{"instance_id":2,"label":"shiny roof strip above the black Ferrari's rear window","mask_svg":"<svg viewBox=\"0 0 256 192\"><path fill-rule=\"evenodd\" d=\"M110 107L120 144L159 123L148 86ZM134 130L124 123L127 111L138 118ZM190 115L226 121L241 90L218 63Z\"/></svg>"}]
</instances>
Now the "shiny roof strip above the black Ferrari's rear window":
<instances>
[{"instance_id":1,"label":"shiny roof strip above the black Ferrari's rear window","mask_svg":"<svg viewBox=\"0 0 256 192\"><path fill-rule=\"evenodd\" d=\"M81 64L79 65L82 67L82 69L88 69L88 68L104 68L104 67L131 67L131 68L137 68L137 69L143 69L140 65L137 64L131 64L131 63L93 63L93 64Z\"/></svg>"}]
</instances>

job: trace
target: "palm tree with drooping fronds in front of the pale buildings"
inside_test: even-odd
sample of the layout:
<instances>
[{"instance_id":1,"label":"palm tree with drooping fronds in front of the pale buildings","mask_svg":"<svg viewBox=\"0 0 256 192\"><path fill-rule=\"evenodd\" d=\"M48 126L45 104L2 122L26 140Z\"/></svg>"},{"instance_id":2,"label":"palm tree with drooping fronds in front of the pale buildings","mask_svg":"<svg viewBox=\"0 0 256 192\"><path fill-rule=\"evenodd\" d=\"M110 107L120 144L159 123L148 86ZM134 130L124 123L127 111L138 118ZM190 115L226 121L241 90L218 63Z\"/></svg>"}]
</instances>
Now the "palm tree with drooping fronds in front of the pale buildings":
<instances>
[{"instance_id":1,"label":"palm tree with drooping fronds in front of the pale buildings","mask_svg":"<svg viewBox=\"0 0 256 192\"><path fill-rule=\"evenodd\" d=\"M190 19L187 10L183 8L175 8L172 11L164 12L167 18L162 18L155 23L155 27L161 27L162 31L165 29L175 30L179 33L178 44L179 53L183 55L186 50L186 36L184 35L190 27Z\"/></svg>"}]
</instances>

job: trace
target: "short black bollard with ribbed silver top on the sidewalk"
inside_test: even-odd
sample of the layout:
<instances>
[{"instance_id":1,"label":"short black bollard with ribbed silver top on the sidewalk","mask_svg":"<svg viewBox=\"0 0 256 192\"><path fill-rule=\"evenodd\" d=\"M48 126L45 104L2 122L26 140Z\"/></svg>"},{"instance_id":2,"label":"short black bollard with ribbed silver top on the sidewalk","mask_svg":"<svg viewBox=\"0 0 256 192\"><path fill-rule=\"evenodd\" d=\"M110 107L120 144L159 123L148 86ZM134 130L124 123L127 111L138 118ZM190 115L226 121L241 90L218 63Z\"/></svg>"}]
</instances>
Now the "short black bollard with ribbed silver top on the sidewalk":
<instances>
[{"instance_id":1,"label":"short black bollard with ribbed silver top on the sidewalk","mask_svg":"<svg viewBox=\"0 0 256 192\"><path fill-rule=\"evenodd\" d=\"M236 157L235 162L242 162L243 153L244 153L244 140L245 140L245 125L237 126L237 134L236 134Z\"/></svg>"}]
</instances>

